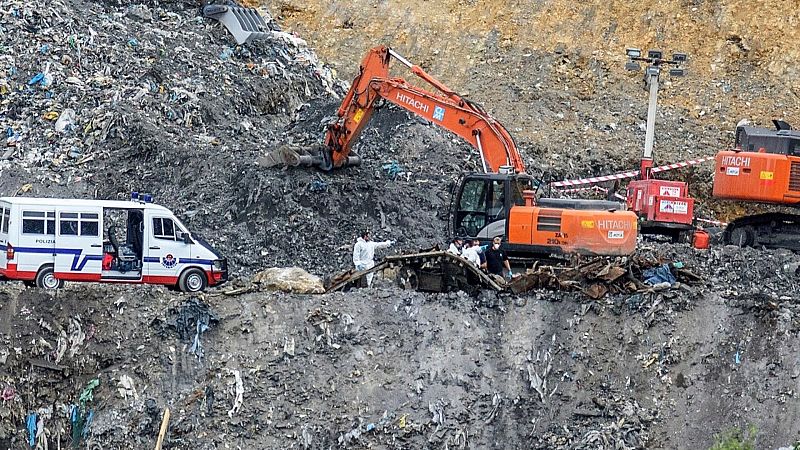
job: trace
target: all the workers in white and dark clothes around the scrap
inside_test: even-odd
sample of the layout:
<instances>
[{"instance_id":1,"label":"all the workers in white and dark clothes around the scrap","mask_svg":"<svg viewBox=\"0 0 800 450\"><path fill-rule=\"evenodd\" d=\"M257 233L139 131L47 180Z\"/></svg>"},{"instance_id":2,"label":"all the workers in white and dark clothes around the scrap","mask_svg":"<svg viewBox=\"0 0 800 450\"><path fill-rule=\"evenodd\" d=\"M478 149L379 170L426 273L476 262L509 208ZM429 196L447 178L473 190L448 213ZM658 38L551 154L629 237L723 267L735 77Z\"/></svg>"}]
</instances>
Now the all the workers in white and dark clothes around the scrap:
<instances>
[{"instance_id":1,"label":"all the workers in white and dark clothes around the scrap","mask_svg":"<svg viewBox=\"0 0 800 450\"><path fill-rule=\"evenodd\" d=\"M364 231L353 246L353 264L356 270L360 272L375 267L375 250L389 248L394 243L395 241L392 240L375 242L370 238L369 231ZM477 239L467 239L465 241L460 237L456 237L450 243L447 251L461 256L490 274L511 278L511 264L506 251L501 248L501 244L502 239L500 236L492 239L491 246L481 245ZM367 274L368 287L372 286L374 275L374 273Z\"/></svg>"}]
</instances>

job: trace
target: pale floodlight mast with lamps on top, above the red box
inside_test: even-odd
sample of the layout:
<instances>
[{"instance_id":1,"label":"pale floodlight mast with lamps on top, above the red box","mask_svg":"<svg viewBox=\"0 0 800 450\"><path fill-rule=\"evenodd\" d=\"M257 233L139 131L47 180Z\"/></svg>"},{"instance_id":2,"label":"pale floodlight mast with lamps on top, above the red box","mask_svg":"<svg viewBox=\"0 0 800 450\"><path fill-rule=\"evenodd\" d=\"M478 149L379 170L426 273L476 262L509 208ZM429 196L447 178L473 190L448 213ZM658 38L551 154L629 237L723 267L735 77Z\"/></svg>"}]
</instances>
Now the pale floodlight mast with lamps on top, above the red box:
<instances>
[{"instance_id":1,"label":"pale floodlight mast with lamps on top, above the red box","mask_svg":"<svg viewBox=\"0 0 800 450\"><path fill-rule=\"evenodd\" d=\"M628 62L625 64L625 69L638 72L640 66L638 61L644 61L648 65L644 72L645 86L650 90L650 98L647 104L647 128L644 135L644 152L642 153L642 161L640 167L640 176L643 180L650 178L650 169L653 167L653 143L655 141L656 129L656 106L658 103L658 88L659 76L661 74L661 66L675 66L676 68L670 69L669 75L683 76L685 74L681 64L686 62L685 53L673 53L672 59L663 59L663 53L660 50L648 50L647 56L642 56L642 51L638 48L627 48L625 54L628 56Z\"/></svg>"}]
</instances>

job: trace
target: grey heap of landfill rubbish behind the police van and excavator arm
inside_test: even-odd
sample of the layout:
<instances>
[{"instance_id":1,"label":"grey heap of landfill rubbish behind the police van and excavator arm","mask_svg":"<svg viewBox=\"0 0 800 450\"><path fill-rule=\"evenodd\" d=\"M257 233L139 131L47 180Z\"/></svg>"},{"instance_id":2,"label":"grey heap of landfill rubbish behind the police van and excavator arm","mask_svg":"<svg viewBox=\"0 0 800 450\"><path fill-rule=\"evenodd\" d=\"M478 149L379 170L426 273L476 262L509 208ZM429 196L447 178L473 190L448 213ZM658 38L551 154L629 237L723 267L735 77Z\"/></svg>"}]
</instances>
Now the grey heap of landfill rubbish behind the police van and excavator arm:
<instances>
[{"instance_id":1,"label":"grey heap of landfill rubbish behind the police van and excavator arm","mask_svg":"<svg viewBox=\"0 0 800 450\"><path fill-rule=\"evenodd\" d=\"M445 238L450 183L479 161L386 108L361 168L257 166L282 145L318 145L346 87L289 33L236 46L195 8L89 1L7 3L0 27L4 195L152 193L234 270L324 274L364 227L429 246Z\"/></svg>"}]
</instances>

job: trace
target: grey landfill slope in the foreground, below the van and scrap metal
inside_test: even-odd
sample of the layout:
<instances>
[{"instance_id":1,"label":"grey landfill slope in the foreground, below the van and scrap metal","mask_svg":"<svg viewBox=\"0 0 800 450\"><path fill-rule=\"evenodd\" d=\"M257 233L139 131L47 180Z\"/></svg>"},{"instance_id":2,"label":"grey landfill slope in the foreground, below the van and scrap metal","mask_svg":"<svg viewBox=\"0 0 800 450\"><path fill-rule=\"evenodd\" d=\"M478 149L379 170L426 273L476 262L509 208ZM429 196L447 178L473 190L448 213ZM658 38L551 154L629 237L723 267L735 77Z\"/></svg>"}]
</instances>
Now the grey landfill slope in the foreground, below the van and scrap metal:
<instances>
[{"instance_id":1,"label":"grey landfill slope in the foreground, below the van and scrap metal","mask_svg":"<svg viewBox=\"0 0 800 450\"><path fill-rule=\"evenodd\" d=\"M0 388L13 395L0 442L24 439L33 411L53 448L98 379L89 448L149 447L165 407L168 448L181 449L708 448L748 425L757 448L791 443L800 308L787 293L800 259L644 253L705 281L601 301L429 295L382 279L199 303L159 288L3 287ZM763 269L748 272L756 254Z\"/></svg>"}]
</instances>

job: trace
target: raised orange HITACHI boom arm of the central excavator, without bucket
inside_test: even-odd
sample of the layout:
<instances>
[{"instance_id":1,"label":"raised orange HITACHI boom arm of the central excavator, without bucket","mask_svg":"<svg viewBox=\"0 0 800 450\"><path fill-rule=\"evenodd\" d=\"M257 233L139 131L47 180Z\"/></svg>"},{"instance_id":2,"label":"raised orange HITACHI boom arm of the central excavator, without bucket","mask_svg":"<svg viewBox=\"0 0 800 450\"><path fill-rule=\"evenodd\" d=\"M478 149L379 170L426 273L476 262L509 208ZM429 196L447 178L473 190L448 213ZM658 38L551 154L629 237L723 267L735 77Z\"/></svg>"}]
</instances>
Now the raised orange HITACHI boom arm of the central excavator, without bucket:
<instances>
[{"instance_id":1,"label":"raised orange HITACHI boom arm of the central excavator, without bucket","mask_svg":"<svg viewBox=\"0 0 800 450\"><path fill-rule=\"evenodd\" d=\"M427 91L402 78L390 78L390 57L409 67L436 91ZM347 164L352 145L369 121L379 98L462 137L478 149L484 171L498 172L501 166L508 165L517 172L525 171L513 138L500 122L384 46L373 48L364 57L359 74L339 107L338 119L328 126L325 146L330 151L331 167L326 168Z\"/></svg>"}]
</instances>

